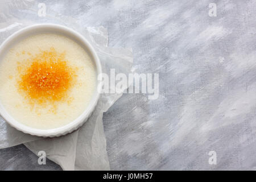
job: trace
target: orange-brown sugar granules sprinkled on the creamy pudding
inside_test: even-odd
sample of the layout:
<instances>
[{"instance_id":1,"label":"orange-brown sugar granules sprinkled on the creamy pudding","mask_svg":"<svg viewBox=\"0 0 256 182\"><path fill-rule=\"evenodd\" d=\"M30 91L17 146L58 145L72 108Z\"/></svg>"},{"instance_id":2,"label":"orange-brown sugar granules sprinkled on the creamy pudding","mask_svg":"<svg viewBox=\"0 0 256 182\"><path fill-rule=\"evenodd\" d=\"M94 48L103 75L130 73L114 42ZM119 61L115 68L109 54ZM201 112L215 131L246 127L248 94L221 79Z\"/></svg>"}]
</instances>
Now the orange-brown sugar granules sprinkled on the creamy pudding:
<instances>
[{"instance_id":1,"label":"orange-brown sugar granules sprinkled on the creamy pudding","mask_svg":"<svg viewBox=\"0 0 256 182\"><path fill-rule=\"evenodd\" d=\"M65 53L57 53L52 47L31 59L32 63L20 73L19 88L39 103L63 100L76 77L65 60Z\"/></svg>"}]
</instances>

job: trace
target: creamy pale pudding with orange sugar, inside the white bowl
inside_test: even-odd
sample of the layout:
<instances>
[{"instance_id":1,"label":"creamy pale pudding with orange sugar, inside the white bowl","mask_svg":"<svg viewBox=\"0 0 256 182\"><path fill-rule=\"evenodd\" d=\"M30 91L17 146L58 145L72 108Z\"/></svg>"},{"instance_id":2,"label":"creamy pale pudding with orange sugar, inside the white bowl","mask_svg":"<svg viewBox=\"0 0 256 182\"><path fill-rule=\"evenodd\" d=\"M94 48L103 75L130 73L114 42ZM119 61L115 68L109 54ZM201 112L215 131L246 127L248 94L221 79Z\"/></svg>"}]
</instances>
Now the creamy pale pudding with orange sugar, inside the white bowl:
<instances>
[{"instance_id":1,"label":"creamy pale pudding with orange sugar, inside the white bowl","mask_svg":"<svg viewBox=\"0 0 256 182\"><path fill-rule=\"evenodd\" d=\"M96 68L73 40L38 34L6 53L0 82L0 102L11 117L35 129L54 129L86 109L96 91Z\"/></svg>"}]
</instances>

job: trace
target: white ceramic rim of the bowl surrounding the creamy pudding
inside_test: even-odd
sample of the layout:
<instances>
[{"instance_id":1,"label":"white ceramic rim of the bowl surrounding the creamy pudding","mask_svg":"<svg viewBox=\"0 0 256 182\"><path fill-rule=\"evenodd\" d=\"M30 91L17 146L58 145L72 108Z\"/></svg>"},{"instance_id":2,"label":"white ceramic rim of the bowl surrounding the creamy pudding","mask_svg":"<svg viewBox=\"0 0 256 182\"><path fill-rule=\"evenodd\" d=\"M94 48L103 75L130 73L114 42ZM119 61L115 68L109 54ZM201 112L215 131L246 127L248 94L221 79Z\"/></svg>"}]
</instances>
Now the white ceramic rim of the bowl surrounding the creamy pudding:
<instances>
[{"instance_id":1,"label":"white ceramic rim of the bowl surrounding the creamy pudding","mask_svg":"<svg viewBox=\"0 0 256 182\"><path fill-rule=\"evenodd\" d=\"M15 32L13 35L9 36L9 38L7 38L5 42L2 43L0 47L0 61L2 61L3 57L5 56L5 53L8 52L9 49L15 43L19 42L19 40L22 40L31 35L47 32L64 35L72 40L75 40L75 42L80 44L80 46L84 48L86 52L89 53L96 67L96 74L98 75L102 72L100 60L98 59L96 51L94 51L94 48L90 45L90 43L82 35L72 30L71 28L60 26L58 24L35 24L33 26L29 26ZM101 88L99 84L101 84L101 82L97 81L97 88ZM11 115L7 113L7 111L1 103L0 114L3 118L5 118L5 121L7 121L11 126L15 127L15 129L17 130L23 131L24 133L36 135L39 137L59 137L61 135L71 133L72 131L78 129L90 117L100 97L100 90L98 90L97 88L95 88L93 97L91 98L90 103L86 107L84 112L74 121L68 123L65 126L58 127L56 129L40 130L23 125L22 123L16 121L13 117L11 117Z\"/></svg>"}]
</instances>

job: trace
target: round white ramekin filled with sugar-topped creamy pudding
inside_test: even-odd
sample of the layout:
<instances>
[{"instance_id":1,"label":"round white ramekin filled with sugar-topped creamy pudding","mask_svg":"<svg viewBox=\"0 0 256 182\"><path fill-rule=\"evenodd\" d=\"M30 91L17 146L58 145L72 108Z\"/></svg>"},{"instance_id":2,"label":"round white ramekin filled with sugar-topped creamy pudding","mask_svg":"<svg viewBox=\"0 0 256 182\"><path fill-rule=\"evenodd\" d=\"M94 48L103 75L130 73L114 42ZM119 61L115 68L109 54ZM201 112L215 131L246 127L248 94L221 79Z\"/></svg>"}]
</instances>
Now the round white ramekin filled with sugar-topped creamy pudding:
<instances>
[{"instance_id":1,"label":"round white ramekin filled with sugar-topped creamy pudding","mask_svg":"<svg viewBox=\"0 0 256 182\"><path fill-rule=\"evenodd\" d=\"M38 24L0 48L0 114L24 133L56 137L76 130L97 104L101 64L70 28Z\"/></svg>"}]
</instances>

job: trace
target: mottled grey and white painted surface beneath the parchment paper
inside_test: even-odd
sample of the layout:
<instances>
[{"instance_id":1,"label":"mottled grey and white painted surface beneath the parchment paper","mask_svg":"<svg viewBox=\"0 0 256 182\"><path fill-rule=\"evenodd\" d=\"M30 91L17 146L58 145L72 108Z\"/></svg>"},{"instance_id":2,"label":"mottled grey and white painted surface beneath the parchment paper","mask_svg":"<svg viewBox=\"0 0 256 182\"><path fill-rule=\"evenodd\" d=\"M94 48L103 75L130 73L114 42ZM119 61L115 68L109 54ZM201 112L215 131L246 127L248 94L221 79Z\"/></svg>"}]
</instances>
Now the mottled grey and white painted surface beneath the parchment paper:
<instances>
[{"instance_id":1,"label":"mottled grey and white painted surface beneath the parchment paper","mask_svg":"<svg viewBox=\"0 0 256 182\"><path fill-rule=\"evenodd\" d=\"M256 169L256 1L45 3L108 28L110 47L133 48L136 72L159 73L158 100L124 94L104 114L111 169ZM0 169L60 167L20 145L0 150Z\"/></svg>"}]
</instances>

